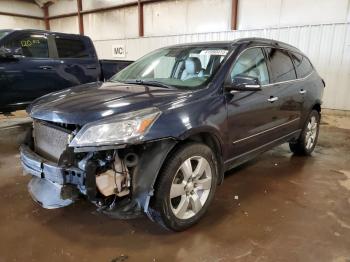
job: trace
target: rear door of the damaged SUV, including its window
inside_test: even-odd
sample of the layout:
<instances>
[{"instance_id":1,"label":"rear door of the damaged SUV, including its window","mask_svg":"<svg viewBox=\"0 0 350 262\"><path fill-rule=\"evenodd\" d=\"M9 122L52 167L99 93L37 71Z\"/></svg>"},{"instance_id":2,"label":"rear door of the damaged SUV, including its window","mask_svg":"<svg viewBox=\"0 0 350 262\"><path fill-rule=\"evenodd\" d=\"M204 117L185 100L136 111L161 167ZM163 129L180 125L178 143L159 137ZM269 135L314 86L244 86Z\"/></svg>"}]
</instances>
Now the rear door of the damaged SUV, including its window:
<instances>
[{"instance_id":1,"label":"rear door of the damaged SUV, including its window","mask_svg":"<svg viewBox=\"0 0 350 262\"><path fill-rule=\"evenodd\" d=\"M281 137L297 130L300 122L302 100L297 92L295 68L289 53L278 48L265 48L271 76L271 98L277 110L274 119L274 136Z\"/></svg>"}]
</instances>

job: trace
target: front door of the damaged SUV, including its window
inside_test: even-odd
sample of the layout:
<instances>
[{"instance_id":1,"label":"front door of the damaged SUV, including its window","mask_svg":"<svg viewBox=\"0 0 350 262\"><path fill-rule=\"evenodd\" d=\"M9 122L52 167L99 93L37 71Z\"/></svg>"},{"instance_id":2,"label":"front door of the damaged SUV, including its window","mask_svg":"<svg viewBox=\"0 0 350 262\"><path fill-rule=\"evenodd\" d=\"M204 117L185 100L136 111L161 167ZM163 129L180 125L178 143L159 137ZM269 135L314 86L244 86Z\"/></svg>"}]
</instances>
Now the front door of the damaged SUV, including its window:
<instances>
[{"instance_id":1,"label":"front door of the damaged SUV, including its window","mask_svg":"<svg viewBox=\"0 0 350 262\"><path fill-rule=\"evenodd\" d=\"M276 126L276 103L270 88L265 53L255 47L244 50L233 65L229 77L257 77L261 91L234 91L227 94L229 148L231 159L269 143Z\"/></svg>"}]
</instances>

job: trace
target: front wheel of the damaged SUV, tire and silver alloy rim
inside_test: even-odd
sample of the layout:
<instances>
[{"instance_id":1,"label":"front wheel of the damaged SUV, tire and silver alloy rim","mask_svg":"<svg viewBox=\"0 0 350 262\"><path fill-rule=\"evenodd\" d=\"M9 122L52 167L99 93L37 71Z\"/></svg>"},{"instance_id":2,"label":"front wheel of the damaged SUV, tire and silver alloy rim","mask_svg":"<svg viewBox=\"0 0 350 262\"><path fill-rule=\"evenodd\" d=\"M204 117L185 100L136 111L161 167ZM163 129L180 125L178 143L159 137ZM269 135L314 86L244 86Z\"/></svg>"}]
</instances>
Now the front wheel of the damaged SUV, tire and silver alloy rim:
<instances>
[{"instance_id":1,"label":"front wheel of the damaged SUV, tire and silver alloy rim","mask_svg":"<svg viewBox=\"0 0 350 262\"><path fill-rule=\"evenodd\" d=\"M217 177L215 157L208 146L200 143L180 146L159 173L149 215L168 230L191 227L207 211Z\"/></svg>"}]
</instances>

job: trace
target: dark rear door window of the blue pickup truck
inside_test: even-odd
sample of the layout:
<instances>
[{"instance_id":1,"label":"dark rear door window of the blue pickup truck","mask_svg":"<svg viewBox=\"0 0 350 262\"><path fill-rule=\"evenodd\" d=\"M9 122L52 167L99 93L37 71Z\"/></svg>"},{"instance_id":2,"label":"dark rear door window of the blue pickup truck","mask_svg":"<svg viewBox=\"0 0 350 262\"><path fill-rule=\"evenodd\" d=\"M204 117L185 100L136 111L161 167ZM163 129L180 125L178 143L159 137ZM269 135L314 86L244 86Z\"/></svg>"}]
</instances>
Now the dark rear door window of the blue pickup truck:
<instances>
[{"instance_id":1,"label":"dark rear door window of the blue pickup truck","mask_svg":"<svg viewBox=\"0 0 350 262\"><path fill-rule=\"evenodd\" d=\"M81 39L56 37L59 58L88 58L88 50Z\"/></svg>"}]
</instances>

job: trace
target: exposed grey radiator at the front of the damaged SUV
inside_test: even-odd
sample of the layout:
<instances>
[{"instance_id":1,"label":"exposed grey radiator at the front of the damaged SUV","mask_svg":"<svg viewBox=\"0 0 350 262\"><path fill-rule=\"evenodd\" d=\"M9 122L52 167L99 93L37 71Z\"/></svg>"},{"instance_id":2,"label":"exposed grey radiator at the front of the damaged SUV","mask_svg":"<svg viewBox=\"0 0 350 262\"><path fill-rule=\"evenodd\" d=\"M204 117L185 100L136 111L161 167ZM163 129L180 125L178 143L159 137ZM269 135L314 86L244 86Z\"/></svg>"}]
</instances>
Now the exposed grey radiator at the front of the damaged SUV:
<instances>
[{"instance_id":1,"label":"exposed grey radiator at the front of the damaged SUV","mask_svg":"<svg viewBox=\"0 0 350 262\"><path fill-rule=\"evenodd\" d=\"M43 158L57 163L68 145L71 131L36 120L33 127L35 152Z\"/></svg>"}]
</instances>

